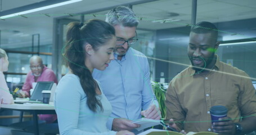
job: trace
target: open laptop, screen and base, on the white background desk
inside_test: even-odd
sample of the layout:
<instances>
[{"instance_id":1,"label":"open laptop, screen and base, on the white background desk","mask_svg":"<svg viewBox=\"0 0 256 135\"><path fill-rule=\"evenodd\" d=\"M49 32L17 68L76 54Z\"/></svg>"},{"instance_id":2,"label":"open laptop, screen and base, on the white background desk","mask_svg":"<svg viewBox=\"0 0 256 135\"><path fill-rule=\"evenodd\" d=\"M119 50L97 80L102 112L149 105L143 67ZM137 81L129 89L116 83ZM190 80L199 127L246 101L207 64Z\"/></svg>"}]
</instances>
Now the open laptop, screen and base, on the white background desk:
<instances>
[{"instance_id":1,"label":"open laptop, screen and base, on the white background desk","mask_svg":"<svg viewBox=\"0 0 256 135\"><path fill-rule=\"evenodd\" d=\"M24 103L42 103L43 102L43 90L51 90L54 82L37 82L37 85L34 88L34 92L30 96L29 100L14 100L16 104ZM56 84L55 84L56 85ZM56 87L55 87L56 88Z\"/></svg>"}]
</instances>

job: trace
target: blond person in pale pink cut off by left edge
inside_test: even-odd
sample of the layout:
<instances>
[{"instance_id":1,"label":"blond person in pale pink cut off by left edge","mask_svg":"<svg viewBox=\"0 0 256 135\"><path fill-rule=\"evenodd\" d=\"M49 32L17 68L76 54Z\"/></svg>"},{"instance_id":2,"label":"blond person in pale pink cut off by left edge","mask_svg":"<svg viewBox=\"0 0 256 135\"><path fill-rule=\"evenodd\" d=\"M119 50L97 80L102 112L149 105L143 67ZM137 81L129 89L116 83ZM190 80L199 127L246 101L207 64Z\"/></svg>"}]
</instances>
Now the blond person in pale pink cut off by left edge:
<instances>
[{"instance_id":1,"label":"blond person in pale pink cut off by left edge","mask_svg":"<svg viewBox=\"0 0 256 135\"><path fill-rule=\"evenodd\" d=\"M5 50L0 48L0 102L2 104L14 104L14 98L12 98L12 95L10 94L5 75L3 75L3 71L8 70L8 65L8 56L6 55Z\"/></svg>"}]
</instances>

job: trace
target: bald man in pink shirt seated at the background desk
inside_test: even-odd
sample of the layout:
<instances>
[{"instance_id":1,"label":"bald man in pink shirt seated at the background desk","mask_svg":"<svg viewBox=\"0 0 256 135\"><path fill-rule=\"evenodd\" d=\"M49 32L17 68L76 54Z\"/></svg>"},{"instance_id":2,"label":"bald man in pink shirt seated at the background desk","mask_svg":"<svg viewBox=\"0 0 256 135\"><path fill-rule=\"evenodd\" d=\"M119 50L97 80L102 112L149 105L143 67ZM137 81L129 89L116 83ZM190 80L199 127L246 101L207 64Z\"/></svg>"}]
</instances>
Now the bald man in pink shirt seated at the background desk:
<instances>
[{"instance_id":1,"label":"bald man in pink shirt seated at the background desk","mask_svg":"<svg viewBox=\"0 0 256 135\"><path fill-rule=\"evenodd\" d=\"M18 91L17 94L19 97L30 97L30 89L32 89L32 83L34 82L48 82L52 81L57 82L56 75L54 72L43 65L43 60L39 56L30 57L30 69L29 73L26 76L26 81L23 85L22 90ZM40 120L45 120L46 123L56 122L57 116L55 114L41 114L39 115Z\"/></svg>"}]
</instances>

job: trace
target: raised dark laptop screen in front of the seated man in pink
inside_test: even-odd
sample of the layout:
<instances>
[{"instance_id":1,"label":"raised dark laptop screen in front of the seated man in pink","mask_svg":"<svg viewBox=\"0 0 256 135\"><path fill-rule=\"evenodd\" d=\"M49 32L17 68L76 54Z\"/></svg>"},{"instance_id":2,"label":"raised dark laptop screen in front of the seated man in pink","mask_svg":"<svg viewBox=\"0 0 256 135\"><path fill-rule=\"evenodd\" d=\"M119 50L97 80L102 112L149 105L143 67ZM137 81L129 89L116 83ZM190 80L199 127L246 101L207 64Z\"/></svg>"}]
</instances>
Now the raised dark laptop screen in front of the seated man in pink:
<instances>
[{"instance_id":1,"label":"raised dark laptop screen in front of the seated man in pink","mask_svg":"<svg viewBox=\"0 0 256 135\"><path fill-rule=\"evenodd\" d=\"M51 90L54 82L37 82L34 92L30 96L30 101L43 101L43 90Z\"/></svg>"}]
</instances>

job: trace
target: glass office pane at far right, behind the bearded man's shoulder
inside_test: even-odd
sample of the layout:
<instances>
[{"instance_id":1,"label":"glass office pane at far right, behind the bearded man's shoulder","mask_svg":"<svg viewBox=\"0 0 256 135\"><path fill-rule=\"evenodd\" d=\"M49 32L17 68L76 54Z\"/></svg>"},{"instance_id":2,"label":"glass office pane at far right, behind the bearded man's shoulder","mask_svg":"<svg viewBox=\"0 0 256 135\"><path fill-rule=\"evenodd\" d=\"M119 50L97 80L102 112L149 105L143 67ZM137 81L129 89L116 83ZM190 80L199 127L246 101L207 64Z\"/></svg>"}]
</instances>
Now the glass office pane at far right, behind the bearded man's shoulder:
<instances>
[{"instance_id":1,"label":"glass office pane at far right, behind the bearded man's shoulder","mask_svg":"<svg viewBox=\"0 0 256 135\"><path fill-rule=\"evenodd\" d=\"M197 1L196 22L213 22L221 44L219 59L256 78L256 1ZM226 44L229 43L229 44Z\"/></svg>"}]
</instances>

